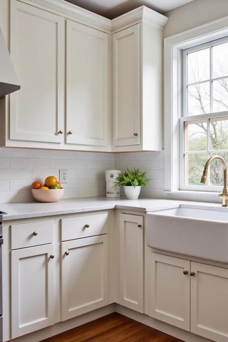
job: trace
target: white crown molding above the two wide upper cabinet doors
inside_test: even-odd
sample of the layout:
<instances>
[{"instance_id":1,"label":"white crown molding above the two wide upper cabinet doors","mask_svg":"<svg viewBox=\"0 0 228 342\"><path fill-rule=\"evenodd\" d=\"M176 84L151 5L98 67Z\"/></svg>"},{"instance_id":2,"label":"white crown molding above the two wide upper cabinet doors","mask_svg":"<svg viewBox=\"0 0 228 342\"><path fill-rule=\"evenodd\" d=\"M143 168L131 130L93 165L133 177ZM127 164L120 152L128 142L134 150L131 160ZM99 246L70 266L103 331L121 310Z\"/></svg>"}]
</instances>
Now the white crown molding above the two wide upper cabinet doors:
<instances>
[{"instance_id":1,"label":"white crown molding above the two wide upper cabinet doors","mask_svg":"<svg viewBox=\"0 0 228 342\"><path fill-rule=\"evenodd\" d=\"M22 0L23 1L23 0ZM85 10L64 0L29 0L31 3L45 6L51 10L75 17L84 21L88 26L97 26L100 30L111 31L111 20L101 15Z\"/></svg>"}]
</instances>

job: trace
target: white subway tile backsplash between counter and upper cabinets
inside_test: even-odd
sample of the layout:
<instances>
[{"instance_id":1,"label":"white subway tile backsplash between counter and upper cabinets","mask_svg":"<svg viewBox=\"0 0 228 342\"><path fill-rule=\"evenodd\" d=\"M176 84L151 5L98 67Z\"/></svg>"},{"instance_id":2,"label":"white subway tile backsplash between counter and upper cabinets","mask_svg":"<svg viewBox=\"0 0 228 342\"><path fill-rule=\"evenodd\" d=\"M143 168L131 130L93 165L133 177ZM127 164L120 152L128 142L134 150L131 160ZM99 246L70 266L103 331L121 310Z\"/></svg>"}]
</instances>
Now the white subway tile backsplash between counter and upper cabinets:
<instances>
[{"instance_id":1,"label":"white subway tile backsplash between counter and upper cabinets","mask_svg":"<svg viewBox=\"0 0 228 342\"><path fill-rule=\"evenodd\" d=\"M68 170L64 198L105 196L105 171L140 169L152 178L142 197L164 197L164 153L93 153L41 149L0 148L0 203L34 200L31 184L47 176L59 178L59 169ZM124 194L123 189L121 193Z\"/></svg>"}]
</instances>

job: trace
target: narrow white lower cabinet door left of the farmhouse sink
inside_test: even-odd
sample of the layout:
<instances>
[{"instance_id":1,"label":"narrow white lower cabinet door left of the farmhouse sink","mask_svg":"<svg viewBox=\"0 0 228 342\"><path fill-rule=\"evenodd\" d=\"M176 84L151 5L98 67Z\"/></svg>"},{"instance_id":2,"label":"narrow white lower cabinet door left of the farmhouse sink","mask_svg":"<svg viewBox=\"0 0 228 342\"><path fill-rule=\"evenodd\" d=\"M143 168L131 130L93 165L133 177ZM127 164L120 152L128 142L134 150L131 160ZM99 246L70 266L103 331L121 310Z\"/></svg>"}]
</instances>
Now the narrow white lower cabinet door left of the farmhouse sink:
<instances>
[{"instance_id":1,"label":"narrow white lower cabinet door left of the farmhouse sink","mask_svg":"<svg viewBox=\"0 0 228 342\"><path fill-rule=\"evenodd\" d=\"M144 312L144 217L120 214L119 303Z\"/></svg>"}]
</instances>

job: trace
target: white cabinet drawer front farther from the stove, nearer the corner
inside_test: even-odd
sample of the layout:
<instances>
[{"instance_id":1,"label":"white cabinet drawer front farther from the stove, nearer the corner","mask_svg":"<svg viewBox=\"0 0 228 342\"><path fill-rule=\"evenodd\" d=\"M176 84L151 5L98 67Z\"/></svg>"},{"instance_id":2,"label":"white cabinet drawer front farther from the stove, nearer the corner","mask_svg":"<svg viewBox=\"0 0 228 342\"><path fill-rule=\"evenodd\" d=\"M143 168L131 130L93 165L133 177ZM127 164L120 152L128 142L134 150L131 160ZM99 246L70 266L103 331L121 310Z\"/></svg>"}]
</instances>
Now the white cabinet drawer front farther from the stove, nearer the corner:
<instances>
[{"instance_id":1,"label":"white cabinet drawer front farther from the stove, nearer the corner","mask_svg":"<svg viewBox=\"0 0 228 342\"><path fill-rule=\"evenodd\" d=\"M107 213L61 220L61 241L107 234L107 232Z\"/></svg>"}]
</instances>

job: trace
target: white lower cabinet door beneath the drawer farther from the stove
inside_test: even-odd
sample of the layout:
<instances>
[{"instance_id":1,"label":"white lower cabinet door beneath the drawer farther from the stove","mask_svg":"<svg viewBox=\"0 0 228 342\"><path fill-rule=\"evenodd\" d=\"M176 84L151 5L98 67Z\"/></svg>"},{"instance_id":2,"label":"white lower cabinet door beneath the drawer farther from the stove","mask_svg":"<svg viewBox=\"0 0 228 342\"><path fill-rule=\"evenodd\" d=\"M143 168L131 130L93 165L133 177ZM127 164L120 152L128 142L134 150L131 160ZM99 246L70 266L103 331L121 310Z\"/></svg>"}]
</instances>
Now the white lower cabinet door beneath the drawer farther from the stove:
<instances>
[{"instance_id":1,"label":"white lower cabinet door beneath the drawer farther from the stove","mask_svg":"<svg viewBox=\"0 0 228 342\"><path fill-rule=\"evenodd\" d=\"M108 304L108 237L62 242L62 321Z\"/></svg>"}]
</instances>

